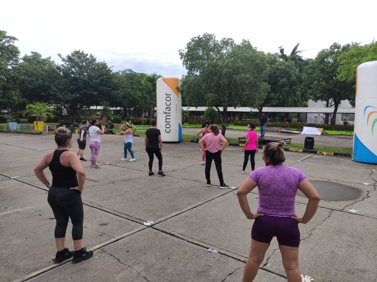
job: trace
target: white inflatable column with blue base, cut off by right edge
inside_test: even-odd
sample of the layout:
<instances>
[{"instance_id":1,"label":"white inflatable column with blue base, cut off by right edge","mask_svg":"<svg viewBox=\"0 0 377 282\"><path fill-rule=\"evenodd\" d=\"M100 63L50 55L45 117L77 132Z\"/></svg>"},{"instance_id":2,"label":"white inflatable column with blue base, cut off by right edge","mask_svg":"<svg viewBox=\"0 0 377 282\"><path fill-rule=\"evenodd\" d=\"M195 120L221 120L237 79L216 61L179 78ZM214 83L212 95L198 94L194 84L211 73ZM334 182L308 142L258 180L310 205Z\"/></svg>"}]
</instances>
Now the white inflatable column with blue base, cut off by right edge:
<instances>
[{"instance_id":1,"label":"white inflatable column with blue base, cut off by right edge","mask_svg":"<svg viewBox=\"0 0 377 282\"><path fill-rule=\"evenodd\" d=\"M377 164L377 61L356 71L355 126L352 160Z\"/></svg>"}]
</instances>

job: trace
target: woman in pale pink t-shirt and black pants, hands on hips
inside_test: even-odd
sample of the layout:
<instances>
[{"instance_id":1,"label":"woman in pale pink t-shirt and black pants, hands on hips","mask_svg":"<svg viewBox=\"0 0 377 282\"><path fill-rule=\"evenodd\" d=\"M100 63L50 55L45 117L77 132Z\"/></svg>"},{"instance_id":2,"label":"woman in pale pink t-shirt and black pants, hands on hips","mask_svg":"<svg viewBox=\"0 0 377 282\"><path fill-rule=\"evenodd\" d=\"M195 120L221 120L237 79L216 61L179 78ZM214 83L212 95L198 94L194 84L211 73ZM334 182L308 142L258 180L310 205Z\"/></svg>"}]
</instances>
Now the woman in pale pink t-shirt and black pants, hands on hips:
<instances>
[{"instance_id":1,"label":"woman in pale pink t-shirt and black pants, hands on hips","mask_svg":"<svg viewBox=\"0 0 377 282\"><path fill-rule=\"evenodd\" d=\"M220 141L222 141L223 145L220 149ZM206 148L204 148L203 143L205 142ZM210 171L211 171L211 164L212 160L215 162L217 175L220 180L220 189L227 189L229 188L228 185L224 183L224 179L222 177L222 170L221 170L221 153L224 151L225 147L227 147L228 141L219 133L219 128L216 124L212 124L210 126L210 133L204 135L199 140L200 148L206 152L205 153L205 179L207 179L207 186L211 186L211 178L210 178Z\"/></svg>"}]
</instances>

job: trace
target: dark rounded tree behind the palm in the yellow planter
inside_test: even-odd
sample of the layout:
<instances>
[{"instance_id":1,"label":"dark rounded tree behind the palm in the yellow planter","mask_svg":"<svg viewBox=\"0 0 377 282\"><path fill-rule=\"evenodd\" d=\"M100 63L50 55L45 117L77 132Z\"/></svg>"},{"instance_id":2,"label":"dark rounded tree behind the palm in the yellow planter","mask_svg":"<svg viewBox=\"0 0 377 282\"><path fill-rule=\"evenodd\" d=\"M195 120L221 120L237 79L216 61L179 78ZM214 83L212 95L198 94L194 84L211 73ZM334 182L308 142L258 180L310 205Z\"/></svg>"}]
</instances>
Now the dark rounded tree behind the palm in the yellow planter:
<instances>
[{"instance_id":1,"label":"dark rounded tree behind the palm in the yellow planter","mask_svg":"<svg viewBox=\"0 0 377 282\"><path fill-rule=\"evenodd\" d=\"M60 75L51 57L42 58L40 53L31 52L31 55L22 57L19 71L18 90L27 102L50 103L55 100Z\"/></svg>"}]
</instances>

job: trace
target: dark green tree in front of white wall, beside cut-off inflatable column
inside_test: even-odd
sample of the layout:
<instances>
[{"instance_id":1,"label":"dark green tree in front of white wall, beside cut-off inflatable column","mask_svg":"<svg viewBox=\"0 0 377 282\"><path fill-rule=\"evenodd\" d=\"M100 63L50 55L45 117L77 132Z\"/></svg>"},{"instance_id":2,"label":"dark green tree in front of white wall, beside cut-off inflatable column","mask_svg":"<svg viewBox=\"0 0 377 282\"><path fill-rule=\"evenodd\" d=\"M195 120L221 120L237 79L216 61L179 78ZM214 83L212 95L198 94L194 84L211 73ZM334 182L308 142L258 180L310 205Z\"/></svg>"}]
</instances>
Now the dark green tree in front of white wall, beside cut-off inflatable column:
<instances>
[{"instance_id":1,"label":"dark green tree in front of white wall, beside cut-off inflatable column","mask_svg":"<svg viewBox=\"0 0 377 282\"><path fill-rule=\"evenodd\" d=\"M304 68L302 81L303 89L315 101L325 101L326 107L334 106L333 117L335 117L339 104L342 100L352 100L355 91L352 83L337 79L340 62L338 56L348 52L350 44L340 45L334 43L329 49L323 49L317 57L309 61ZM327 119L327 117L326 117ZM335 124L335 118L331 124Z\"/></svg>"}]
</instances>

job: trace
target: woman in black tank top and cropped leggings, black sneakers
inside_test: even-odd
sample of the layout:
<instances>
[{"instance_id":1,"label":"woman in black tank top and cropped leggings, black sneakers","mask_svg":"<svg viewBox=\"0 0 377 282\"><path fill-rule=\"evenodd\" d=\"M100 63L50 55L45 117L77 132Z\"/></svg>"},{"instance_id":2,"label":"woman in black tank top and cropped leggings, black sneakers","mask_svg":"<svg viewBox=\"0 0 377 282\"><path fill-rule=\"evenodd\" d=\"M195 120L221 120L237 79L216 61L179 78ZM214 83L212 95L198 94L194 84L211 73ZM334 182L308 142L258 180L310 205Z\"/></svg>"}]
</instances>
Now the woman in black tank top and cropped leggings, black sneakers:
<instances>
[{"instance_id":1,"label":"woman in black tank top and cropped leggings, black sneakers","mask_svg":"<svg viewBox=\"0 0 377 282\"><path fill-rule=\"evenodd\" d=\"M34 168L35 175L49 189L47 201L56 218L55 243L57 253L55 264L72 258L78 263L93 256L92 251L83 248L83 202L81 193L84 189L85 170L78 156L69 152L72 147L72 133L65 127L59 127L55 134L58 149L48 153ZM52 174L52 184L44 174L49 167ZM68 219L72 222L72 239L75 252L65 247Z\"/></svg>"}]
</instances>

